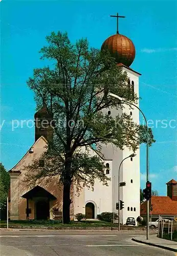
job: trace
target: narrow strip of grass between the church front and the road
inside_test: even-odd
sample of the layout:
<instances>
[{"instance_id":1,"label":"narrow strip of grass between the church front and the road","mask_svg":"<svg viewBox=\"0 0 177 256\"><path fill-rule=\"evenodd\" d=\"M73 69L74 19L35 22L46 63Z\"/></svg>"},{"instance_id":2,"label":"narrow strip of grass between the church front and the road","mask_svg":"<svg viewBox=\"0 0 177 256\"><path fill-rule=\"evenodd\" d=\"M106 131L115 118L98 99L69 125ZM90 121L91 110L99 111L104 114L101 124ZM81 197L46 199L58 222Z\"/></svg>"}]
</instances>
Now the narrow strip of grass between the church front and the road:
<instances>
[{"instance_id":1,"label":"narrow strip of grass between the church front and the road","mask_svg":"<svg viewBox=\"0 0 177 256\"><path fill-rule=\"evenodd\" d=\"M29 221L9 221L10 226L54 226L54 227L117 227L118 224L113 224L105 221L71 221L70 224L62 224L61 221L42 221L42 220L29 220ZM0 221L0 227L7 227L6 221Z\"/></svg>"}]
</instances>

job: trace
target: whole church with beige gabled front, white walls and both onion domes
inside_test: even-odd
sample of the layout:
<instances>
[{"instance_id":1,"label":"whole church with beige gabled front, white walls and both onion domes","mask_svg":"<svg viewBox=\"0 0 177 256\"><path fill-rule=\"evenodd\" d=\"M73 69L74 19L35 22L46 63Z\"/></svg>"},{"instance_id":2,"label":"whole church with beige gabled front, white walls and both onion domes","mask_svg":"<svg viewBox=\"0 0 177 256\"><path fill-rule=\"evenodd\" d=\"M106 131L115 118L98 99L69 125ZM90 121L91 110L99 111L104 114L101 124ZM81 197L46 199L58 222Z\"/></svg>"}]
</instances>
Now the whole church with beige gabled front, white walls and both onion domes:
<instances>
[{"instance_id":1,"label":"whole church with beige gabled front, white walls and both onion domes","mask_svg":"<svg viewBox=\"0 0 177 256\"><path fill-rule=\"evenodd\" d=\"M116 58L118 66L122 72L126 71L129 77L127 86L132 93L139 97L139 77L141 74L132 70L129 66L135 58L135 46L126 36L116 35L107 38L102 49L108 49ZM139 104L139 103L138 103ZM137 106L138 106L137 104ZM105 113L115 117L116 109L105 109ZM133 120L139 123L138 109L130 109L125 106L119 114L124 111L131 115ZM35 114L35 120L43 117L52 119L45 108ZM52 131L35 127L35 143L26 155L9 171L11 177L10 184L10 219L57 219L62 218L62 185L58 183L59 177L53 177L50 181L28 187L24 181L24 166L31 164L46 150L47 141L51 138ZM97 154L106 165L106 175L110 177L108 186L103 186L99 180L95 180L94 191L83 187L80 195L76 193L76 187L71 189L71 219L78 212L85 214L86 219L97 219L101 212L116 212L118 202L119 183L125 182L125 186L120 187L120 200L124 202L124 208L120 210L120 223L125 224L128 217L137 219L140 216L140 151L137 150L136 157L128 157L132 154L125 148L121 151L113 145L103 145L101 153L90 150L91 155ZM118 169L121 161L120 179Z\"/></svg>"}]
</instances>

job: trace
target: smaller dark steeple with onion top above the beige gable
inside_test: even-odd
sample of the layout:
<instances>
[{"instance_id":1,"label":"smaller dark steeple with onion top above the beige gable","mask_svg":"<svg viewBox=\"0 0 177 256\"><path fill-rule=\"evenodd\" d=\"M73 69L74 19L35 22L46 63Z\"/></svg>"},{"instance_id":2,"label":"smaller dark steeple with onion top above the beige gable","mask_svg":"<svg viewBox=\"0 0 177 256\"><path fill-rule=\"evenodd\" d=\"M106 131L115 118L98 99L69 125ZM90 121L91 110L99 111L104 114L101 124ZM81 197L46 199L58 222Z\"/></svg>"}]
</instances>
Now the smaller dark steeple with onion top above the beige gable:
<instances>
[{"instance_id":1,"label":"smaller dark steeple with onion top above the beige gable","mask_svg":"<svg viewBox=\"0 0 177 256\"><path fill-rule=\"evenodd\" d=\"M35 141L38 140L41 136L45 137L47 141L51 141L53 138L53 115L48 112L45 105L43 105L42 108L34 114L34 119Z\"/></svg>"}]
</instances>

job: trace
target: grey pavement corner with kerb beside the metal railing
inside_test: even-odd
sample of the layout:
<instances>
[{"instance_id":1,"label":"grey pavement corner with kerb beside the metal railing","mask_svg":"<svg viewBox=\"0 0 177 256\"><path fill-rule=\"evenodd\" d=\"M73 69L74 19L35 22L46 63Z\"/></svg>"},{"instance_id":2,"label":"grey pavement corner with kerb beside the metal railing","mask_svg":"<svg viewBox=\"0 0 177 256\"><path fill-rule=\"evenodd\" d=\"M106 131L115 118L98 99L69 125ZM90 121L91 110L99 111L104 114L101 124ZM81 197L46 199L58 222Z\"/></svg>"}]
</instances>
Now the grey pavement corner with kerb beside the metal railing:
<instances>
[{"instance_id":1,"label":"grey pavement corner with kerb beside the metal railing","mask_svg":"<svg viewBox=\"0 0 177 256\"><path fill-rule=\"evenodd\" d=\"M133 241L147 244L151 246L160 247L166 250L175 251L177 252L177 243L174 241L158 238L157 234L151 234L149 237L149 240L146 240L146 236L137 236L135 238L132 238Z\"/></svg>"}]
</instances>

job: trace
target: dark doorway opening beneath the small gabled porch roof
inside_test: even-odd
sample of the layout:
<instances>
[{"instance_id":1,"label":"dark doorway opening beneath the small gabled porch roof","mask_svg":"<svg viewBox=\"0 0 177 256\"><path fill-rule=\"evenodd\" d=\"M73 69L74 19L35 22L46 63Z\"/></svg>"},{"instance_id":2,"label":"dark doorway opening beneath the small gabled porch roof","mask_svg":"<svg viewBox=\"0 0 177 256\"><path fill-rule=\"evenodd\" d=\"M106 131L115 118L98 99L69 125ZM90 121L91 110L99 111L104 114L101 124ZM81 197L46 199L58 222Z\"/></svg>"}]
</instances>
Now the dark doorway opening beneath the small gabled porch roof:
<instances>
[{"instance_id":1,"label":"dark doorway opening beneath the small gabled porch roof","mask_svg":"<svg viewBox=\"0 0 177 256\"><path fill-rule=\"evenodd\" d=\"M36 219L37 220L47 220L50 216L49 212L50 206L49 201L40 200L36 202Z\"/></svg>"}]
</instances>

